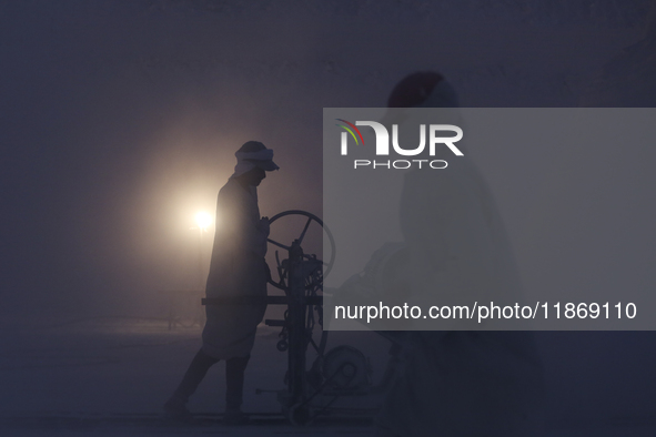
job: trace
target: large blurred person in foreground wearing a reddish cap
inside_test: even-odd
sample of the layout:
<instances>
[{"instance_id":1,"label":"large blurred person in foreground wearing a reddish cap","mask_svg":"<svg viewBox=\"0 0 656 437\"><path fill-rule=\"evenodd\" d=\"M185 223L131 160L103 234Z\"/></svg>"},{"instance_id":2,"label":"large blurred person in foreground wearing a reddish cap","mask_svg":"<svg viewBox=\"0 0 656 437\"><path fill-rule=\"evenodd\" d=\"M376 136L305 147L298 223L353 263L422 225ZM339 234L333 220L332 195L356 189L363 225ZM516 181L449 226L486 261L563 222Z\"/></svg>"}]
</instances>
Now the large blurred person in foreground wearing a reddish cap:
<instances>
[{"instance_id":1,"label":"large blurred person in foreground wearing a reddish cap","mask_svg":"<svg viewBox=\"0 0 656 437\"><path fill-rule=\"evenodd\" d=\"M395 87L388 106L456 108L457 99L440 73L420 72ZM519 296L509 242L485 181L466 156L443 152L435 157L448 157L447 170L405 175L405 254L388 256L404 265L383 268L397 272L386 282L406 288L405 302L424 305L458 295ZM398 365L376 418L377 436L542 435L543 375L532 333L460 327L395 336Z\"/></svg>"}]
</instances>

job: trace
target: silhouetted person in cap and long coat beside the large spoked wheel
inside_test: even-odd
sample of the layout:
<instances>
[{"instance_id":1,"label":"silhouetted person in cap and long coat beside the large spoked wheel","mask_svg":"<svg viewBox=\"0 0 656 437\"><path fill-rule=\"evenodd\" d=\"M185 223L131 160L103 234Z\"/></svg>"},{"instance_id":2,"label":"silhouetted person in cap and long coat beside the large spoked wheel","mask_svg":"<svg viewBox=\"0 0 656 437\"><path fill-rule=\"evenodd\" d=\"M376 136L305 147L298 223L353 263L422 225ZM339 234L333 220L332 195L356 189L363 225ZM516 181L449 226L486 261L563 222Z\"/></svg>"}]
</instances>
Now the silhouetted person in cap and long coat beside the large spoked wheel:
<instances>
[{"instance_id":1,"label":"silhouetted person in cap and long coat beside the large spoked wheel","mask_svg":"<svg viewBox=\"0 0 656 437\"><path fill-rule=\"evenodd\" d=\"M264 261L269 218L260 217L258 185L268 171L277 170L273 151L249 141L235 153L234 173L219 192L216 232L206 296L266 296L269 267ZM190 396L220 359L225 359L225 415L228 424L248 420L241 411L244 370L266 304L208 305L203 346L198 352L171 398L164 404L168 418L189 421Z\"/></svg>"}]
</instances>

